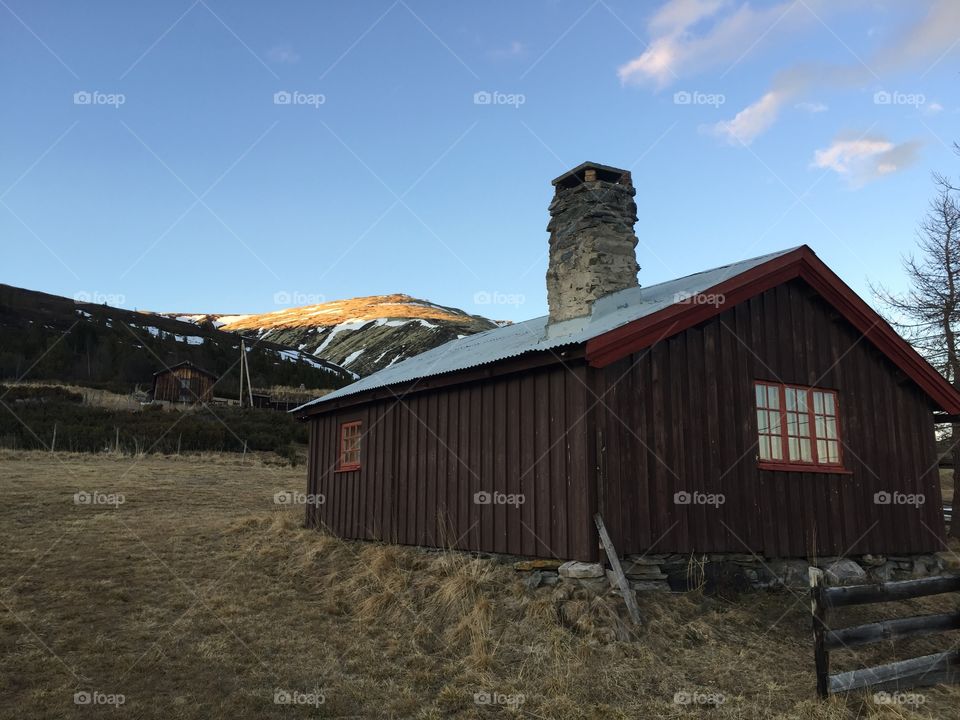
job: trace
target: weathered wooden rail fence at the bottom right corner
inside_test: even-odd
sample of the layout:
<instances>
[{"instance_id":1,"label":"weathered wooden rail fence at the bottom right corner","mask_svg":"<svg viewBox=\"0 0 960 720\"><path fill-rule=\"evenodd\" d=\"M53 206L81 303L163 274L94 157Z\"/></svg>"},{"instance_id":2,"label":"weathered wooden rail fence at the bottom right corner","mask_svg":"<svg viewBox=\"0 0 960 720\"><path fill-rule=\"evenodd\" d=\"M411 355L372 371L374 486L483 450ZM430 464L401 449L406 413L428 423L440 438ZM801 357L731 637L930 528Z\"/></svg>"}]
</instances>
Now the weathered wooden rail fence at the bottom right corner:
<instances>
[{"instance_id":1,"label":"weathered wooden rail fence at the bottom right corner","mask_svg":"<svg viewBox=\"0 0 960 720\"><path fill-rule=\"evenodd\" d=\"M846 628L832 628L828 622L828 612L834 608L960 592L960 576L841 587L826 587L823 578L822 570L810 568L814 661L817 669L817 694L821 698L832 693L866 687L889 691L960 682L960 650L956 649L830 674L831 650L958 630L960 612L894 618Z\"/></svg>"}]
</instances>

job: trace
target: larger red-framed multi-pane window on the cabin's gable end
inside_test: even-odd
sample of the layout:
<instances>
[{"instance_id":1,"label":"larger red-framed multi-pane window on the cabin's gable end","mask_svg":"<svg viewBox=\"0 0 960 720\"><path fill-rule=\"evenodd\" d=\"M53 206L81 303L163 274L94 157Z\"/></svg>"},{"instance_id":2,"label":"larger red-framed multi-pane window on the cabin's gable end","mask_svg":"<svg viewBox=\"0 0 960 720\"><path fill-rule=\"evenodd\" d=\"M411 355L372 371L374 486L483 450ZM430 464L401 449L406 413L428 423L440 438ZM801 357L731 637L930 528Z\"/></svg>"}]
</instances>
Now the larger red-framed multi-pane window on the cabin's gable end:
<instances>
[{"instance_id":1,"label":"larger red-framed multi-pane window on the cabin's gable end","mask_svg":"<svg viewBox=\"0 0 960 720\"><path fill-rule=\"evenodd\" d=\"M840 399L836 390L757 380L754 401L758 467L849 474L843 464ZM767 453L764 447L769 448Z\"/></svg>"}]
</instances>

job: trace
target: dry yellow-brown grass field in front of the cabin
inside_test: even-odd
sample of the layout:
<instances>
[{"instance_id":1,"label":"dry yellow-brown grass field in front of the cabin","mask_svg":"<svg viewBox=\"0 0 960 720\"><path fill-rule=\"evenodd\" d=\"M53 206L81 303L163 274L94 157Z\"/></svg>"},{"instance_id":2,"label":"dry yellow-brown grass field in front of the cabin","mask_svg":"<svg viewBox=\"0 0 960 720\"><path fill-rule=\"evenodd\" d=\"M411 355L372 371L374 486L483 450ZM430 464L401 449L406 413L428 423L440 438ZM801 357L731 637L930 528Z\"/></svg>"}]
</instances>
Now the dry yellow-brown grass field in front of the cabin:
<instances>
[{"instance_id":1,"label":"dry yellow-brown grass field in front of the cabin","mask_svg":"<svg viewBox=\"0 0 960 720\"><path fill-rule=\"evenodd\" d=\"M231 456L0 451L0 717L958 716L957 687L816 700L803 594L645 594L631 632L616 597L303 530L302 508L274 499L303 475ZM838 654L836 669L945 640L960 637Z\"/></svg>"}]
</instances>

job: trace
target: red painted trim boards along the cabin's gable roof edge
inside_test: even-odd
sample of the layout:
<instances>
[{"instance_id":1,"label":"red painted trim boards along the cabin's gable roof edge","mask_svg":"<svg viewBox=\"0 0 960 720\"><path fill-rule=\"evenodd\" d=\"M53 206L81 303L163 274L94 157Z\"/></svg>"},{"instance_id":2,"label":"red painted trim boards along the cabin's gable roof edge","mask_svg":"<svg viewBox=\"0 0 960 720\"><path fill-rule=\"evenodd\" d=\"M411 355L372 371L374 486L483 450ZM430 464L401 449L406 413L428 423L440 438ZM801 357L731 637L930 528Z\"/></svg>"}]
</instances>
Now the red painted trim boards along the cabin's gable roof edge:
<instances>
[{"instance_id":1,"label":"red painted trim boards along the cabin's gable roof edge","mask_svg":"<svg viewBox=\"0 0 960 720\"><path fill-rule=\"evenodd\" d=\"M589 340L587 360L594 367L604 367L794 278L806 281L920 386L941 410L960 413L960 393L806 245L724 280L702 293L722 295L722 304L671 305Z\"/></svg>"}]
</instances>

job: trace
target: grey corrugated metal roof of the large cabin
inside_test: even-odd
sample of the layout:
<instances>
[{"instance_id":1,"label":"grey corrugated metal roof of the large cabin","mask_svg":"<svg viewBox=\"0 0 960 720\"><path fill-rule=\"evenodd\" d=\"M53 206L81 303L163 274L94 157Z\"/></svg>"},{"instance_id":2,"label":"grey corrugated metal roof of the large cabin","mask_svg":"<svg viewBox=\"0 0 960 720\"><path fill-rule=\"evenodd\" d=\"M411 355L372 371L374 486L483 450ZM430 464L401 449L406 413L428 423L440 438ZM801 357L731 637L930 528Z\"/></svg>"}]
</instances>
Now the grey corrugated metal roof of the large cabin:
<instances>
[{"instance_id":1,"label":"grey corrugated metal roof of the large cabin","mask_svg":"<svg viewBox=\"0 0 960 720\"><path fill-rule=\"evenodd\" d=\"M459 340L451 340L312 400L291 412L298 412L317 403L354 395L365 390L466 370L524 353L552 350L565 345L579 345L629 322L682 302L690 296L703 293L725 280L795 249L761 255L649 287L621 290L597 300L589 316L567 320L549 328L548 317L544 315L514 325L468 335Z\"/></svg>"}]
</instances>

